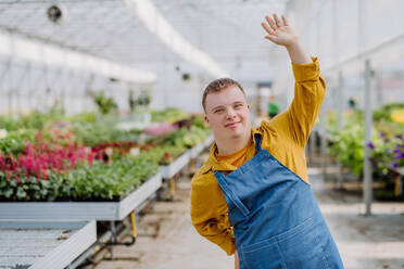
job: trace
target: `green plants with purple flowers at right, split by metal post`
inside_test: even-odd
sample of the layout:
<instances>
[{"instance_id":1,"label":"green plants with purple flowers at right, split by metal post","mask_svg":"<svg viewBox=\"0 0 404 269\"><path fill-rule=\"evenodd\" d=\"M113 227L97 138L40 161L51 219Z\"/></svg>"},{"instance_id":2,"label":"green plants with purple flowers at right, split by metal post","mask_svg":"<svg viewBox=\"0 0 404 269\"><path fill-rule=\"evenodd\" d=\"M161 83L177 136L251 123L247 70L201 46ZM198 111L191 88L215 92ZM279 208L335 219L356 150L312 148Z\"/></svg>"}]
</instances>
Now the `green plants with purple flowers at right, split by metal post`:
<instances>
[{"instance_id":1,"label":"green plants with purple flowers at right, split by metal post","mask_svg":"<svg viewBox=\"0 0 404 269\"><path fill-rule=\"evenodd\" d=\"M370 162L375 180L390 184L404 169L404 104L392 103L374 111ZM358 110L344 114L342 130L337 126L337 114L328 114L330 155L354 176L363 177L364 113Z\"/></svg>"}]
</instances>

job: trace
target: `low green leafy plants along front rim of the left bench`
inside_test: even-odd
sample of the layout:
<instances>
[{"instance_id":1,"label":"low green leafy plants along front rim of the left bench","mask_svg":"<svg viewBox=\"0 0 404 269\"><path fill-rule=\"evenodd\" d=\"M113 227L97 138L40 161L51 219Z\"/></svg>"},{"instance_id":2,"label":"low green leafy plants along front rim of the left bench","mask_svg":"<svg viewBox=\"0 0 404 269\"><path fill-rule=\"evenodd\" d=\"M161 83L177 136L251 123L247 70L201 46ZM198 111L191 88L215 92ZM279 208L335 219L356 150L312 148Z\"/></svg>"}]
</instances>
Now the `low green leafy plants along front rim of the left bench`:
<instances>
[{"instance_id":1,"label":"low green leafy plants along front rim of the left bench","mask_svg":"<svg viewBox=\"0 0 404 269\"><path fill-rule=\"evenodd\" d=\"M48 179L20 175L18 182L8 179L0 171L0 200L5 201L60 201L122 198L159 170L156 162L143 152L137 157L126 155L108 164L93 166L80 164L67 174L49 172Z\"/></svg>"}]
</instances>

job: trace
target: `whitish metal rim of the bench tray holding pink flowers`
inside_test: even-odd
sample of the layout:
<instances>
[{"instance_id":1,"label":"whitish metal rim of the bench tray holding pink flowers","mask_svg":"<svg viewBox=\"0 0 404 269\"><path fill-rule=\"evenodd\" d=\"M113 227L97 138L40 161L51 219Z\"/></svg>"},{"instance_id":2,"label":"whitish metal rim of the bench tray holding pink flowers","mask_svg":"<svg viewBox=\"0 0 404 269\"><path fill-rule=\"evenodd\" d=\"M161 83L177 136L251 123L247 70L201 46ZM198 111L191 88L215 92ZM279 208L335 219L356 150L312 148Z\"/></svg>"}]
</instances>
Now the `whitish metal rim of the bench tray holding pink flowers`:
<instances>
[{"instance_id":1,"label":"whitish metal rim of the bench tray holding pink flowers","mask_svg":"<svg viewBox=\"0 0 404 269\"><path fill-rule=\"evenodd\" d=\"M122 220L162 185L156 174L119 202L4 202L0 219Z\"/></svg>"}]
</instances>

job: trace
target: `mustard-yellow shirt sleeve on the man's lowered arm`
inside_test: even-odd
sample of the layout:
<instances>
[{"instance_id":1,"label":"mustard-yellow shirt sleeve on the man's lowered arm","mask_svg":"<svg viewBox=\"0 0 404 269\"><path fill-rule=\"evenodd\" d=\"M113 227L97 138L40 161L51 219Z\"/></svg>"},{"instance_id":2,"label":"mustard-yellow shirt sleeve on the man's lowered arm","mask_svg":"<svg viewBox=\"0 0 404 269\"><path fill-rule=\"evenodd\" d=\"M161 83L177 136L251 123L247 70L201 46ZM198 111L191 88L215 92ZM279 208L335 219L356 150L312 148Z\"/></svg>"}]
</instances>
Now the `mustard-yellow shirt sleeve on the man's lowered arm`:
<instances>
[{"instance_id":1,"label":"mustard-yellow shirt sleeve on the man's lowered arm","mask_svg":"<svg viewBox=\"0 0 404 269\"><path fill-rule=\"evenodd\" d=\"M223 196L213 183L203 184L192 180L191 219L199 234L217 244L230 256L236 252L235 234L227 214L224 214L227 212L226 201L220 195Z\"/></svg>"}]
</instances>

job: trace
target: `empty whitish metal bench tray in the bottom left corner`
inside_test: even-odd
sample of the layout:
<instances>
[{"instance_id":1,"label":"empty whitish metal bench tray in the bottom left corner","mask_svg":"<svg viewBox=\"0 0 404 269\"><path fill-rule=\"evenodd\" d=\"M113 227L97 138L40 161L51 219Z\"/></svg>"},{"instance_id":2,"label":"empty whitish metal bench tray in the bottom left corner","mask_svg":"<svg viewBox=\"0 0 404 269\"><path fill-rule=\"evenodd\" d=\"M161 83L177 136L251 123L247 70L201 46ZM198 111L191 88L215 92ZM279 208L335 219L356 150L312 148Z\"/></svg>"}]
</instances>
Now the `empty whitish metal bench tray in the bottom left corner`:
<instances>
[{"instance_id":1,"label":"empty whitish metal bench tray in the bottom left corner","mask_svg":"<svg viewBox=\"0 0 404 269\"><path fill-rule=\"evenodd\" d=\"M0 268L63 269L97 240L96 221L0 221Z\"/></svg>"}]
</instances>

